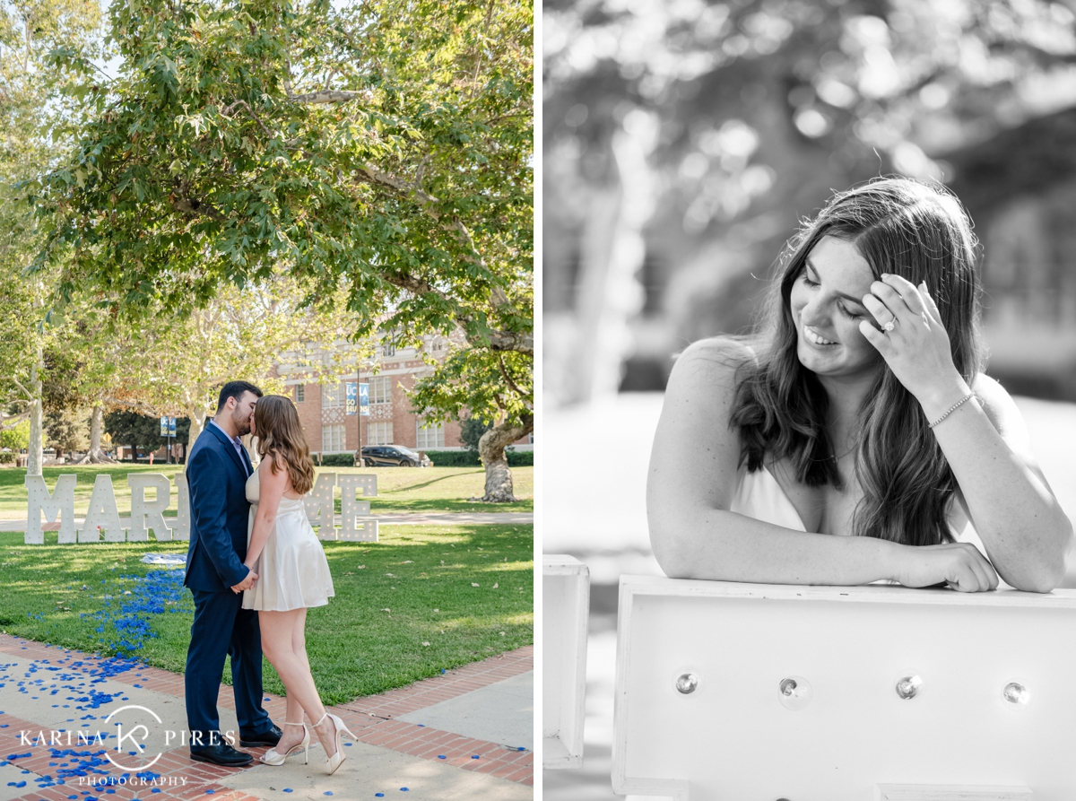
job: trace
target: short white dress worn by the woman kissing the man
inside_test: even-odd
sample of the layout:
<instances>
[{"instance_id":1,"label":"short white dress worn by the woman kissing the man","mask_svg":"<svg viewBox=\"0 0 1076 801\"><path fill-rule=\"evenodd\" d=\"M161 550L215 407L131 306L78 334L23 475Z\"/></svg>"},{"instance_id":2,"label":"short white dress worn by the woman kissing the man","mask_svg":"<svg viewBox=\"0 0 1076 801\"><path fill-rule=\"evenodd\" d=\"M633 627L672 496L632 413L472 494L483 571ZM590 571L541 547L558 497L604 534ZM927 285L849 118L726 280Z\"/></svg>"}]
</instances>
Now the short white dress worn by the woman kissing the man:
<instances>
[{"instance_id":1,"label":"short white dress worn by the woman kissing the man","mask_svg":"<svg viewBox=\"0 0 1076 801\"><path fill-rule=\"evenodd\" d=\"M247 547L258 511L259 472L254 470L246 479L246 500L251 502ZM302 606L325 606L336 594L325 549L310 528L301 497L280 500L277 525L258 556L254 572L258 580L243 591L244 609L287 612Z\"/></svg>"}]
</instances>

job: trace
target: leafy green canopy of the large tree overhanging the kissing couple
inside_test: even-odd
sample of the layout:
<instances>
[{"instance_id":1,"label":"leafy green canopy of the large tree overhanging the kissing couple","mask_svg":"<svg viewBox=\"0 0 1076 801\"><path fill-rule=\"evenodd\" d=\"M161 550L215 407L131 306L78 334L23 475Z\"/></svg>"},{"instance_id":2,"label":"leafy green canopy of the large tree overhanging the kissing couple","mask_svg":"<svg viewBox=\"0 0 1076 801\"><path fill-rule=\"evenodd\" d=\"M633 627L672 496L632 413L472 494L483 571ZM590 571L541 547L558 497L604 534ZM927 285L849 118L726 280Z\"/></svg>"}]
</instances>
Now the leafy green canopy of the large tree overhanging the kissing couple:
<instances>
[{"instance_id":1,"label":"leafy green canopy of the large tree overhanging the kissing couple","mask_svg":"<svg viewBox=\"0 0 1076 801\"><path fill-rule=\"evenodd\" d=\"M355 336L458 329L476 365L505 354L529 373L532 16L461 0L114 3L114 81L57 55L84 75L83 118L75 156L23 185L38 268L68 259L65 295L119 314L189 312L285 269L314 305L343 292Z\"/></svg>"}]
</instances>

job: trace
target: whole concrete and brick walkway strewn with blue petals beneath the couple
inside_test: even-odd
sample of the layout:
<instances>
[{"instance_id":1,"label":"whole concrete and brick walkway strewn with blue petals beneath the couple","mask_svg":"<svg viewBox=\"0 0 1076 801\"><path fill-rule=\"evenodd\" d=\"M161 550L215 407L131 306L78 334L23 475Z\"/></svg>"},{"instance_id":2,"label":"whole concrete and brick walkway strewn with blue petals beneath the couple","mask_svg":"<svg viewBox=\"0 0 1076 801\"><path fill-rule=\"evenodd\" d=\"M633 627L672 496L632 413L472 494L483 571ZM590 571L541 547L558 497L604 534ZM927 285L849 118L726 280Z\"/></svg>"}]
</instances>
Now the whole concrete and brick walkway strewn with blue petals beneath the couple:
<instances>
[{"instance_id":1,"label":"whole concrete and brick walkway strewn with blue petals beneath the couple","mask_svg":"<svg viewBox=\"0 0 1076 801\"><path fill-rule=\"evenodd\" d=\"M167 732L186 729L183 676L0 634L0 801L533 799L533 671L528 646L329 707L358 742L345 744L348 759L328 776L316 737L309 764L301 754L275 768L195 762L186 746L168 742ZM284 699L267 694L264 703L283 722ZM230 687L221 686L217 706L222 730L237 729ZM146 721L154 730L141 756L108 733ZM98 730L103 737L87 744ZM267 748L243 750L257 757Z\"/></svg>"}]
</instances>

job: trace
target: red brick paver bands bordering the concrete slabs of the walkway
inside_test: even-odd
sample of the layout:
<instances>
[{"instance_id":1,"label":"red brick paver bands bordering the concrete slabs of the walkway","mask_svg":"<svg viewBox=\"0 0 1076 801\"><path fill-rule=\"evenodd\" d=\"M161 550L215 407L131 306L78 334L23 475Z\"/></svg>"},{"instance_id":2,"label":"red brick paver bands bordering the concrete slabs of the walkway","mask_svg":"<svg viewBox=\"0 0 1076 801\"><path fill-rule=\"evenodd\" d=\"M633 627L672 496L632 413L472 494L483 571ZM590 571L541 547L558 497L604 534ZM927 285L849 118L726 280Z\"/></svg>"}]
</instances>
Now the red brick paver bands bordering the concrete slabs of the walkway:
<instances>
[{"instance_id":1,"label":"red brick paver bands bordering the concrete slabs of the walkway","mask_svg":"<svg viewBox=\"0 0 1076 801\"><path fill-rule=\"evenodd\" d=\"M30 660L30 672L33 674L61 670L85 676L100 676L102 665L105 663L105 660L93 655L52 647L8 634L0 634L0 660L3 655ZM424 679L409 687L327 708L339 715L363 743L455 765L467 771L491 773L499 778L533 786L534 753L530 750L519 750L506 744L475 740L396 719L400 715L457 698L530 670L534 670L534 646L450 670L441 676ZM137 687L178 698L183 698L184 694L182 675L156 668L134 665L118 673L107 672L107 677L110 681L125 684L131 688ZM12 680L14 678L11 675L0 676L0 688L4 683ZM20 686L23 684L19 683ZM20 687L19 691L25 688ZM231 688L222 685L218 705L233 708ZM270 693L266 693L266 698L268 700L265 701L265 708L270 717L275 721L283 720L284 699ZM47 705L43 706L43 713L45 708ZM49 727L40 721L24 720L6 712L0 713L0 744L2 744L0 771L9 771L2 775L10 779L12 774L11 769L4 765L30 772L17 774L18 781L4 782L3 784L8 784L6 788L0 786L0 790L20 789L22 785L18 784L20 781L27 787L26 793L12 796L8 792L4 798L14 801L112 801L112 799L126 801L136 798L164 801L212 796L218 801L259 801L255 796L217 784L220 779L242 772L246 770L245 768L220 768L195 762L189 758L185 746L166 751L153 765L152 772L159 778L154 778L152 786L107 785L89 789L85 784L76 786L71 775L76 768L93 773L98 778L104 775L114 775L118 778L119 772L103 757L87 759L86 755L93 753L93 748L87 748L85 745L76 747L60 744L52 748L31 748L25 744L20 745L19 732L33 732L29 735L33 737L41 730L48 736ZM68 750L67 754L65 749ZM267 748L244 748L244 750L260 756ZM112 769L112 774L109 774L109 769ZM182 782L184 778L185 784ZM38 786L37 789L31 787L34 784Z\"/></svg>"}]
</instances>

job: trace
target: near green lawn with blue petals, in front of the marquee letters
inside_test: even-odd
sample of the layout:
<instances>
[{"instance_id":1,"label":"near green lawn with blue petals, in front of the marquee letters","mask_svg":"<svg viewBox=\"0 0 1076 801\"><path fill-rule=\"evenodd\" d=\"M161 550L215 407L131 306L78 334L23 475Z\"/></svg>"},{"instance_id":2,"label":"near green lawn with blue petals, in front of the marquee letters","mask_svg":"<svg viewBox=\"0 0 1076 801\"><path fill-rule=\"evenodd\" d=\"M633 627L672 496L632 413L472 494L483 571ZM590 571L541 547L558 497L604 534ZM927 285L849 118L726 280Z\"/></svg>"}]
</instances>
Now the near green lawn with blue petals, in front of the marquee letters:
<instances>
[{"instance_id":1,"label":"near green lawn with blue petals, in front of the marquee letters","mask_svg":"<svg viewBox=\"0 0 1076 801\"><path fill-rule=\"evenodd\" d=\"M336 598L310 610L307 648L325 703L534 643L532 526L396 525L380 539L324 544ZM0 533L0 629L182 673L190 593L176 568L139 560L185 546L59 546L54 532L28 546L19 533ZM265 688L283 692L265 668Z\"/></svg>"}]
</instances>

